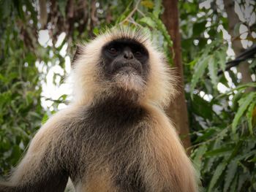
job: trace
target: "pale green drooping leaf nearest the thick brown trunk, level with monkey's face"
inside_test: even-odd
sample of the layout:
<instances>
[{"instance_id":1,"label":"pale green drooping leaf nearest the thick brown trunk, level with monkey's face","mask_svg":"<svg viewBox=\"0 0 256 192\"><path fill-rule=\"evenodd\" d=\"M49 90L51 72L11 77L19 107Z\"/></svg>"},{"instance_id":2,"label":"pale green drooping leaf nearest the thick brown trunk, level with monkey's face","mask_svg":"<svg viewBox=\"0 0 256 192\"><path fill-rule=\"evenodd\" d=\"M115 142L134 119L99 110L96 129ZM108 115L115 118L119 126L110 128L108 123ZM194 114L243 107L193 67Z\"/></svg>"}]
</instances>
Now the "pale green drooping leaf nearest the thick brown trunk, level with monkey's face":
<instances>
[{"instance_id":1,"label":"pale green drooping leaf nearest the thick brown trunk, level with monkey's face","mask_svg":"<svg viewBox=\"0 0 256 192\"><path fill-rule=\"evenodd\" d=\"M210 56L207 56L203 60L198 61L197 64L195 65L195 67L194 67L194 74L192 76L192 82L191 82L191 88L190 88L191 96L192 96L192 93L195 89L195 85L197 84L200 77L203 76L203 73L206 70L209 58L210 58Z\"/></svg>"}]
</instances>

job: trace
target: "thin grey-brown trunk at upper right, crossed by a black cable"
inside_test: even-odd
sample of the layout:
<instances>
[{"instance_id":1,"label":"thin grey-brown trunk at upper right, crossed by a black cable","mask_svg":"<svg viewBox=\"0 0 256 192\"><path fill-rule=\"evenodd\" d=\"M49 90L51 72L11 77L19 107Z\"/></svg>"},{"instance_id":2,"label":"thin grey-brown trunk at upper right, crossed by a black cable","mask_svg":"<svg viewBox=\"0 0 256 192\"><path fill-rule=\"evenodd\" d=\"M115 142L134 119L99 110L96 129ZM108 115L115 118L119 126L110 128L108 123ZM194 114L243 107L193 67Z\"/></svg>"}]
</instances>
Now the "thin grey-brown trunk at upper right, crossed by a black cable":
<instances>
[{"instance_id":1,"label":"thin grey-brown trunk at upper right, crossed by a black cable","mask_svg":"<svg viewBox=\"0 0 256 192\"><path fill-rule=\"evenodd\" d=\"M229 31L229 34L231 35L232 47L233 47L235 54L239 55L240 53L244 52L244 47L241 44L240 38L236 37L235 31L234 31L236 24L241 22L238 18L238 15L235 12L235 1L225 0L224 7L227 12L228 31ZM246 61L241 62L238 65L238 71L241 72L243 83L252 82L252 77L249 72L249 63L248 62L246 62ZM251 91L251 90L246 90L246 91Z\"/></svg>"}]
</instances>

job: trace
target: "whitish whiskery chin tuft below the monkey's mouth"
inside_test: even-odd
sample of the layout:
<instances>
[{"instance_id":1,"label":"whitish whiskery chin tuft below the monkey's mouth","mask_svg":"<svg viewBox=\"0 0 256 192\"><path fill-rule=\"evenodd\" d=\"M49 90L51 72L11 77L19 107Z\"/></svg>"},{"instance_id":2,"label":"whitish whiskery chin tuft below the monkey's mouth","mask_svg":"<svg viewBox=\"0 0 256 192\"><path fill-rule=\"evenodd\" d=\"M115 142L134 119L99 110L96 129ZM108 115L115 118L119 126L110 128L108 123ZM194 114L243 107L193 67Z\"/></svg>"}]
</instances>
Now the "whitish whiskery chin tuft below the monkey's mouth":
<instances>
[{"instance_id":1,"label":"whitish whiskery chin tuft below the monkey's mouth","mask_svg":"<svg viewBox=\"0 0 256 192\"><path fill-rule=\"evenodd\" d=\"M135 71L121 70L115 74L114 81L121 90L135 91L136 93L143 91L145 85L143 78Z\"/></svg>"}]
</instances>

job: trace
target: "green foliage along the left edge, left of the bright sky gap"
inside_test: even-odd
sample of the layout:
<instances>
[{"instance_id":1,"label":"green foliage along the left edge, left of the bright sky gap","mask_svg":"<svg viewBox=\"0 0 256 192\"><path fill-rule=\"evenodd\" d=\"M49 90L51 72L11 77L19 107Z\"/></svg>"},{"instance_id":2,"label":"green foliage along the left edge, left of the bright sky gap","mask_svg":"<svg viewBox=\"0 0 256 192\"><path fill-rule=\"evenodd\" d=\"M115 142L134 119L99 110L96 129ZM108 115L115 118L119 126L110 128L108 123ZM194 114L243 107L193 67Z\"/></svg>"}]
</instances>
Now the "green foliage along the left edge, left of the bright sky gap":
<instances>
[{"instance_id":1,"label":"green foliage along the left edge, left of the bright sky gap","mask_svg":"<svg viewBox=\"0 0 256 192\"><path fill-rule=\"evenodd\" d=\"M18 5L11 1L0 3L0 173L6 174L39 128L44 110L34 65L37 55L23 39L29 27L18 26L19 20L26 20L25 15L20 15Z\"/></svg>"}]
</instances>

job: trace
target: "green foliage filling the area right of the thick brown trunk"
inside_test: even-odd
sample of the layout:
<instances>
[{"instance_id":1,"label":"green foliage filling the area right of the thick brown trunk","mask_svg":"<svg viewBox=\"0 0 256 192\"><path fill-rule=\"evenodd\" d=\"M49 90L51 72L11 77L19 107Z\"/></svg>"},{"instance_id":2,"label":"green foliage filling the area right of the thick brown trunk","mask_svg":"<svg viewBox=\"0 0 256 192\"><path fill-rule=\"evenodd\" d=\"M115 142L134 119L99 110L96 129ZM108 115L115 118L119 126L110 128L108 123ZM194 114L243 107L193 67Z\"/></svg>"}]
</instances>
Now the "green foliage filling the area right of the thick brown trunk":
<instances>
[{"instance_id":1,"label":"green foliage filling the area right of the thick brown trunk","mask_svg":"<svg viewBox=\"0 0 256 192\"><path fill-rule=\"evenodd\" d=\"M230 46L241 39L228 38L221 2L206 5L206 1L180 3L192 159L204 191L256 191L256 93L249 91L256 82L241 84L234 68L217 75L233 58ZM248 4L241 1L238 6ZM250 6L255 9L255 2ZM255 25L243 24L250 31L243 39L255 42ZM255 74L253 60L249 63Z\"/></svg>"}]
</instances>

